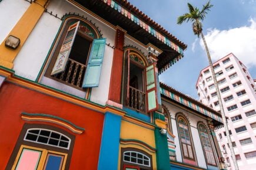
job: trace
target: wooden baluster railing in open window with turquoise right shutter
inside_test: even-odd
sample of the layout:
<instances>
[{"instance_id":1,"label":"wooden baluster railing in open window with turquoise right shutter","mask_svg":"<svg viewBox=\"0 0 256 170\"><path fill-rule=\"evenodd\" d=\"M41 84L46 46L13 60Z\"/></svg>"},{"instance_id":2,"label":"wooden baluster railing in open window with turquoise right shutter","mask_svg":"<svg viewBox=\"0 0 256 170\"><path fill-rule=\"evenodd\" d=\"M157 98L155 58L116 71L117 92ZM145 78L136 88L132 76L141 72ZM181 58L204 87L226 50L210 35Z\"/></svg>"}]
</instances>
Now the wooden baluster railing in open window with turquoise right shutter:
<instances>
[{"instance_id":1,"label":"wooden baluster railing in open window with turquoise right shutter","mask_svg":"<svg viewBox=\"0 0 256 170\"><path fill-rule=\"evenodd\" d=\"M54 77L62 81L62 83L81 88L85 69L86 66L84 64L68 59L64 72L55 74Z\"/></svg>"}]
</instances>

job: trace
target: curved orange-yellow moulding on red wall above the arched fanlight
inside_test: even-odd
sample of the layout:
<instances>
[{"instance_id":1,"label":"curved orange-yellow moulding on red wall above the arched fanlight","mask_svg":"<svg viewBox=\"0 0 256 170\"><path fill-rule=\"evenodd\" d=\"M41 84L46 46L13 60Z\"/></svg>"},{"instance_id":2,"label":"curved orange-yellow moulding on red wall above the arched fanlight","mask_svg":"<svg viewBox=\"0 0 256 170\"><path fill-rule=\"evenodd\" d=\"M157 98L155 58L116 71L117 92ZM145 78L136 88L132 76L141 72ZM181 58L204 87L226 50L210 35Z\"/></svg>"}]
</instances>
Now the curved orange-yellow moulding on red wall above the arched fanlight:
<instances>
[{"instance_id":1,"label":"curved orange-yellow moulding on red wall above the arched fanlight","mask_svg":"<svg viewBox=\"0 0 256 170\"><path fill-rule=\"evenodd\" d=\"M69 125L67 123L64 123L64 122L58 121L58 120L54 120L52 118L29 117L29 116L26 116L26 115L22 115L21 118L23 120L26 120L26 121L45 121L45 122L49 122L49 123L55 123L55 124L58 124L58 125L62 125L65 128L68 128L68 130L71 130L72 132L74 132L76 134L82 134L82 132L84 132L84 131L81 131L81 130L77 130L77 128L74 128L74 127L72 127L71 125Z\"/></svg>"}]
</instances>

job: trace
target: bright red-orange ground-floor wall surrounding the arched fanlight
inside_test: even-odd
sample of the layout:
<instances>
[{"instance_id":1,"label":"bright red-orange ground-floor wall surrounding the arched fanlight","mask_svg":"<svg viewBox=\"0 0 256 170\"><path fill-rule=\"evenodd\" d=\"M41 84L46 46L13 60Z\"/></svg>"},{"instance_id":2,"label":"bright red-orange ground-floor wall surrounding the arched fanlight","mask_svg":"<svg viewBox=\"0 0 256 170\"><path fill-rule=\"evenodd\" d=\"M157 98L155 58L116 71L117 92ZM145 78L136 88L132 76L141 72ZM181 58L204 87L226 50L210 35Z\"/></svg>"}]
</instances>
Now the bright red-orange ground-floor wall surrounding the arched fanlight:
<instances>
[{"instance_id":1,"label":"bright red-orange ground-floor wall surrounding the arched fanlight","mask_svg":"<svg viewBox=\"0 0 256 170\"><path fill-rule=\"evenodd\" d=\"M22 112L56 115L85 128L74 134L69 168L97 169L104 114L7 82L0 88L0 169L5 169L24 123L32 123L21 119Z\"/></svg>"}]
</instances>

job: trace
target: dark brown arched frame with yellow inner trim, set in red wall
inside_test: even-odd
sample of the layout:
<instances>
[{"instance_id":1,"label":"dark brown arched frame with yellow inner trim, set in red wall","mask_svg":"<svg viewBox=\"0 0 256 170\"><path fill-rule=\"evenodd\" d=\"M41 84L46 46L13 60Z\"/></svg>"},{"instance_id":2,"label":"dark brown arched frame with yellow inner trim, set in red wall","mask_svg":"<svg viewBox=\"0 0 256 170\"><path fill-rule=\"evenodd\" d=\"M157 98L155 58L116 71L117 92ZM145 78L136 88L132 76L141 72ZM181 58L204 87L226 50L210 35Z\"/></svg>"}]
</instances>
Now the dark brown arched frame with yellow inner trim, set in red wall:
<instances>
[{"instance_id":1,"label":"dark brown arched frame with yellow inner trim, set in red wall","mask_svg":"<svg viewBox=\"0 0 256 170\"><path fill-rule=\"evenodd\" d=\"M56 147L55 145L45 145L39 142L24 140L27 131L32 129L45 129L65 135L65 137L67 137L70 140L69 149ZM38 153L38 162L34 164L37 167L37 169L43 169L45 168L45 166L48 166L48 161L50 157L61 158L61 161L59 162L60 167L62 167L61 169L68 169L71 162L71 155L74 148L74 142L75 136L69 134L68 132L62 130L61 128L45 124L24 124L24 127L22 128L22 131L19 134L19 138L14 147L14 151L12 152L12 155L9 158L9 162L6 166L6 169L15 169L22 165L19 162L22 161L22 159L28 157L28 155L24 156L22 154L23 152L29 152L34 154L36 152ZM41 157L40 155L44 155L44 157ZM30 157L26 158L26 162L29 159Z\"/></svg>"}]
</instances>

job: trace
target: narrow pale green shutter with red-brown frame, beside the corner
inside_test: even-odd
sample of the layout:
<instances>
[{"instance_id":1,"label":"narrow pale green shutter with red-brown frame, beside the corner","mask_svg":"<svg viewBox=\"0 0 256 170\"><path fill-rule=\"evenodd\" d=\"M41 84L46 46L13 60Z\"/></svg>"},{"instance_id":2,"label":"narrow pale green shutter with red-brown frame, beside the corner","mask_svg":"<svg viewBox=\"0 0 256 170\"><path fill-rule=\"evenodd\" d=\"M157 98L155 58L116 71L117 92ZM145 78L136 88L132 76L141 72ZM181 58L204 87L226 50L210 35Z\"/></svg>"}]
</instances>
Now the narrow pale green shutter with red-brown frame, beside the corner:
<instances>
[{"instance_id":1,"label":"narrow pale green shutter with red-brown frame, beside the corner","mask_svg":"<svg viewBox=\"0 0 256 170\"><path fill-rule=\"evenodd\" d=\"M145 68L146 72L146 97L147 97L147 112L158 109L157 97L157 79L155 76L155 64L151 64Z\"/></svg>"}]
</instances>

